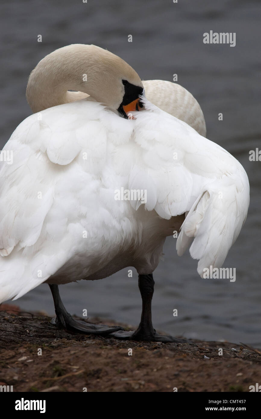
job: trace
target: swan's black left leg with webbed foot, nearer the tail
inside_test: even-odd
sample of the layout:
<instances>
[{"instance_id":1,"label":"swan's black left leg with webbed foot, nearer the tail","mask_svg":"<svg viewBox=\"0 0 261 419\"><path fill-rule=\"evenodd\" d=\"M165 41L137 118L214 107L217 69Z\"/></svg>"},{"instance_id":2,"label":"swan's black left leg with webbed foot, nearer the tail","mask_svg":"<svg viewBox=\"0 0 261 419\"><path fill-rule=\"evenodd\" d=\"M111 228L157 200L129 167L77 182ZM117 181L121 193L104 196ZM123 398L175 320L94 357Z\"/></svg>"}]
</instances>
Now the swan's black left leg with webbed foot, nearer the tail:
<instances>
[{"instance_id":1,"label":"swan's black left leg with webbed foot, nearer the tail","mask_svg":"<svg viewBox=\"0 0 261 419\"><path fill-rule=\"evenodd\" d=\"M105 326L103 324L92 324L82 320L74 320L72 316L67 313L65 306L62 303L59 295L58 285L49 284L54 299L54 308L56 318L52 320L57 327L69 330L80 331L86 334L108 335L111 332L123 330L120 326Z\"/></svg>"}]
</instances>

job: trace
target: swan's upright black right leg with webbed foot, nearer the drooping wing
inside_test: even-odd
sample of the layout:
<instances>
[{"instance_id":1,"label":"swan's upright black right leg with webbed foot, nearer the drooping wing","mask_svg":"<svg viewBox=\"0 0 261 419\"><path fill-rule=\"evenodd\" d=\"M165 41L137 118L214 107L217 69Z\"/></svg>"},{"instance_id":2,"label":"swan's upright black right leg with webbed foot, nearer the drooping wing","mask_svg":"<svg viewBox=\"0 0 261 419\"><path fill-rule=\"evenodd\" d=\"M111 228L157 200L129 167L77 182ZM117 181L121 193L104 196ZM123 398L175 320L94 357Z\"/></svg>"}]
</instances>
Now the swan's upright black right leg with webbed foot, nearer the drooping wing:
<instances>
[{"instance_id":1,"label":"swan's upright black right leg with webbed foot, nearer the drooping wing","mask_svg":"<svg viewBox=\"0 0 261 419\"><path fill-rule=\"evenodd\" d=\"M178 339L173 336L163 336L156 333L152 326L151 320L151 300L154 292L154 279L152 274L139 275L139 288L142 297L142 313L140 325L137 330L133 331L116 331L110 334L118 339L130 339L138 341L154 341L154 342L174 342L174 343L185 343L186 339Z\"/></svg>"}]
</instances>

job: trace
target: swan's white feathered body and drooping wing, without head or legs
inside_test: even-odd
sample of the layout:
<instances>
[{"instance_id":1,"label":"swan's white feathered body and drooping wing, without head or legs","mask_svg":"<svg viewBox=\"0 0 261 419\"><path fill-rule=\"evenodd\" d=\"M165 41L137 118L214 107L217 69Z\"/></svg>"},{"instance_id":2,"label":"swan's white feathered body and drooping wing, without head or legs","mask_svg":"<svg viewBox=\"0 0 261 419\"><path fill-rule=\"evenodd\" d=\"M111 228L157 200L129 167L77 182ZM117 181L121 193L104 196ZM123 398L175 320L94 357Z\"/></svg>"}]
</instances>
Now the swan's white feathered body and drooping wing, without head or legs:
<instances>
[{"instance_id":1,"label":"swan's white feathered body and drooping wing, without head or legs","mask_svg":"<svg viewBox=\"0 0 261 419\"><path fill-rule=\"evenodd\" d=\"M136 119L83 99L25 119L0 170L0 302L44 281L101 279L158 265L179 230L204 267L222 266L245 221L248 177L238 160L146 99ZM146 189L147 203L115 190ZM179 216L179 217L177 217Z\"/></svg>"}]
</instances>

